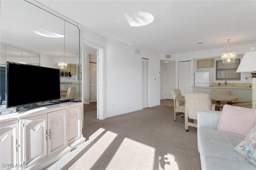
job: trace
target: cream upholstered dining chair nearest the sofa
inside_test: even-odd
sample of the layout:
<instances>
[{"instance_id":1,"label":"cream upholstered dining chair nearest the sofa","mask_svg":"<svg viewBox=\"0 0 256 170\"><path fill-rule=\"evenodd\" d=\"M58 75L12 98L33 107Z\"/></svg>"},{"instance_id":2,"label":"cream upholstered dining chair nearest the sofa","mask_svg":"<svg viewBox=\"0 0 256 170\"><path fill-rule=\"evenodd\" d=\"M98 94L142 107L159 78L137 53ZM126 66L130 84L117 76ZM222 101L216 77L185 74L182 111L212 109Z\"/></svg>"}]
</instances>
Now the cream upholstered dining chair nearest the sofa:
<instances>
[{"instance_id":1,"label":"cream upholstered dining chair nearest the sofa","mask_svg":"<svg viewBox=\"0 0 256 170\"><path fill-rule=\"evenodd\" d=\"M207 93L185 93L185 99L185 129L188 132L188 126L197 127L197 111L215 110L216 104L212 104Z\"/></svg>"}]
</instances>

